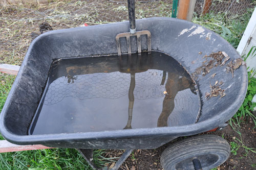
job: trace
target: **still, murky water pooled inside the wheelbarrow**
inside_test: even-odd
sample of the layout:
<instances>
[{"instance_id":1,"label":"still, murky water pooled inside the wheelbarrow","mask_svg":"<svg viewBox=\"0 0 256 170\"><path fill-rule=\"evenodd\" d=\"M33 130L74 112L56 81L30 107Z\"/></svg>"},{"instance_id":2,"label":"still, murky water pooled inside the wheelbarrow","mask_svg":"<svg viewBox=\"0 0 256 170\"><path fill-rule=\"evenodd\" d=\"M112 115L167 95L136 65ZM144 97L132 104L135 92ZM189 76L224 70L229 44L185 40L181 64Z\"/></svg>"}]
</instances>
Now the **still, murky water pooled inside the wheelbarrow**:
<instances>
[{"instance_id":1,"label":"still, murky water pooled inside the wheelbarrow","mask_svg":"<svg viewBox=\"0 0 256 170\"><path fill-rule=\"evenodd\" d=\"M182 126L200 107L196 83L166 54L63 58L50 67L28 133Z\"/></svg>"}]
</instances>

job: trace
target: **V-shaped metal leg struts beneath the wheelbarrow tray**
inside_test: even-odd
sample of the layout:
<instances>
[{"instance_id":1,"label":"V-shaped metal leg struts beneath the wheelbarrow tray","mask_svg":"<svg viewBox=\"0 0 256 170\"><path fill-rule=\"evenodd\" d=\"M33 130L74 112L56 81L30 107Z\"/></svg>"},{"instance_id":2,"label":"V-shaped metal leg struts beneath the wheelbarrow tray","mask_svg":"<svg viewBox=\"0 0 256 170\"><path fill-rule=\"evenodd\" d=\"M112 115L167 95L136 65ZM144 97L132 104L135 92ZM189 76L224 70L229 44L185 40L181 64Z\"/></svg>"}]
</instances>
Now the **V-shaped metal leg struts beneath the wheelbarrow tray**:
<instances>
[{"instance_id":1,"label":"V-shaped metal leg struts beneath the wheelbarrow tray","mask_svg":"<svg viewBox=\"0 0 256 170\"><path fill-rule=\"evenodd\" d=\"M99 167L97 167L97 165L95 165L92 162L93 150L91 150L91 149L77 149L77 150L83 156L83 158L86 159L86 161L90 164L90 166L93 169L99 169ZM131 155L132 152L133 152L132 149L125 150L125 152L122 154L122 156L117 160L115 165L110 170L117 170L122 165L122 163ZM103 168L103 169L105 169L105 168Z\"/></svg>"}]
</instances>

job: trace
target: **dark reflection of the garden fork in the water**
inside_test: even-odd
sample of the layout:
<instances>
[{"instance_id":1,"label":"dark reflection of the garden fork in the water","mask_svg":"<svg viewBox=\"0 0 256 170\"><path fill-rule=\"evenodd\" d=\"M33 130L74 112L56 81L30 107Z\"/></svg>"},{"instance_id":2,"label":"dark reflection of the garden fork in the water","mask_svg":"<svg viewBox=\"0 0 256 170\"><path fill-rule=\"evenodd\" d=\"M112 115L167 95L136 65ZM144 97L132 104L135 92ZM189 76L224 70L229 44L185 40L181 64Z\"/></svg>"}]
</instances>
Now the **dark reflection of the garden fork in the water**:
<instances>
[{"instance_id":1,"label":"dark reflection of the garden fork in the water","mask_svg":"<svg viewBox=\"0 0 256 170\"><path fill-rule=\"evenodd\" d=\"M128 107L128 120L127 125L123 129L132 129L132 116L133 116L133 105L134 105L134 88L135 88L135 73L144 72L151 67L151 54L144 53L133 54L133 55L122 55L119 56L119 71L131 74L131 83L129 88L129 107Z\"/></svg>"}]
</instances>

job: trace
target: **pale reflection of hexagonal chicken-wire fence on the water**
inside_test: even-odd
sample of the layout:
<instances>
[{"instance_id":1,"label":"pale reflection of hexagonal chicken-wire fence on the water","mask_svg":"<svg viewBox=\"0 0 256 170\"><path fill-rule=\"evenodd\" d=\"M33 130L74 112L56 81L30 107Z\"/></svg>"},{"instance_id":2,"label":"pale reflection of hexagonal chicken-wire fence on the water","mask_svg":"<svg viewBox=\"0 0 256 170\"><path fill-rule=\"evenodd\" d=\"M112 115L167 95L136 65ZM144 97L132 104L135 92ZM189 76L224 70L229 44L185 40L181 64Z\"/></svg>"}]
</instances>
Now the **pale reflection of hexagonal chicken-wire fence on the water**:
<instances>
[{"instance_id":1,"label":"pale reflection of hexagonal chicken-wire fence on the water","mask_svg":"<svg viewBox=\"0 0 256 170\"><path fill-rule=\"evenodd\" d=\"M134 98L138 100L162 98L165 85L161 85L163 71L147 70L135 74L136 86ZM64 98L72 97L79 100L92 98L117 99L127 95L131 76L120 72L98 73L76 76L74 82L60 77L48 87L44 104L52 105Z\"/></svg>"}]
</instances>

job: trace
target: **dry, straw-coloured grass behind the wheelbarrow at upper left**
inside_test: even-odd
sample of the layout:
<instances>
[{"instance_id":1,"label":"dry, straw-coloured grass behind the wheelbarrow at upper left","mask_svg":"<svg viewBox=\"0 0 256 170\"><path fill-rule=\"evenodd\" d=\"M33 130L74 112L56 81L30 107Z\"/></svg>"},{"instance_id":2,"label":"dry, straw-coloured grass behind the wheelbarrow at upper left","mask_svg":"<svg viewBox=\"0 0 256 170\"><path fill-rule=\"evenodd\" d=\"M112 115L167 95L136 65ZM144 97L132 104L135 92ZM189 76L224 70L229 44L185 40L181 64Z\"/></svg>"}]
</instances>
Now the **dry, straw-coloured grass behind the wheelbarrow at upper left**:
<instances>
[{"instance_id":1,"label":"dry, straw-coloured grass behind the wheelbarrow at upper left","mask_svg":"<svg viewBox=\"0 0 256 170\"><path fill-rule=\"evenodd\" d=\"M120 0L122 1L122 0ZM55 1L38 6L0 7L0 63L20 65L31 33L47 21L54 30L127 20L127 4L109 0ZM170 0L136 4L136 17L170 16Z\"/></svg>"}]
</instances>

